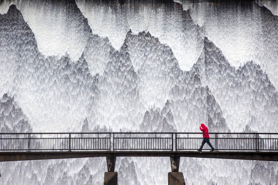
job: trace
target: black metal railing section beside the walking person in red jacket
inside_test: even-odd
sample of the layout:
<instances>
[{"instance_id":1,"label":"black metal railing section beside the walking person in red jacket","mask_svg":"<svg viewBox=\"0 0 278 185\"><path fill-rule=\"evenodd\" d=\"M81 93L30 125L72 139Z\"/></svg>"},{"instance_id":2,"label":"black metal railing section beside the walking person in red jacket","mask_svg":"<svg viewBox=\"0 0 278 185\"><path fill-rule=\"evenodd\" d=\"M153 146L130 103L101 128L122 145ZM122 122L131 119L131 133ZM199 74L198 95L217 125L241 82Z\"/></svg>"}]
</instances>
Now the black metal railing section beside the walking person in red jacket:
<instances>
[{"instance_id":1,"label":"black metal railing section beside the walking person in red jacket","mask_svg":"<svg viewBox=\"0 0 278 185\"><path fill-rule=\"evenodd\" d=\"M278 151L278 133L209 133L216 151ZM175 133L176 150L197 150L203 138L200 133ZM205 144L203 150L210 150Z\"/></svg>"}]
</instances>

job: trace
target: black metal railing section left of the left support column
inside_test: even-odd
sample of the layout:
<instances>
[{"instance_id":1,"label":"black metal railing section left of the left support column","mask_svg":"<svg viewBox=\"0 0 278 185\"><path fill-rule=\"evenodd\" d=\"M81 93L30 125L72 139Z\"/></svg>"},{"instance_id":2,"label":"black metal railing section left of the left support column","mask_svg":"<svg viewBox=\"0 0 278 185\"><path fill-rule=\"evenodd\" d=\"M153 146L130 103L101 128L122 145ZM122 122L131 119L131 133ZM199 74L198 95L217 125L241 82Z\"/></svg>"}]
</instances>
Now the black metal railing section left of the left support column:
<instances>
[{"instance_id":1,"label":"black metal railing section left of the left support column","mask_svg":"<svg viewBox=\"0 0 278 185\"><path fill-rule=\"evenodd\" d=\"M111 133L0 133L0 151L110 150Z\"/></svg>"}]
</instances>

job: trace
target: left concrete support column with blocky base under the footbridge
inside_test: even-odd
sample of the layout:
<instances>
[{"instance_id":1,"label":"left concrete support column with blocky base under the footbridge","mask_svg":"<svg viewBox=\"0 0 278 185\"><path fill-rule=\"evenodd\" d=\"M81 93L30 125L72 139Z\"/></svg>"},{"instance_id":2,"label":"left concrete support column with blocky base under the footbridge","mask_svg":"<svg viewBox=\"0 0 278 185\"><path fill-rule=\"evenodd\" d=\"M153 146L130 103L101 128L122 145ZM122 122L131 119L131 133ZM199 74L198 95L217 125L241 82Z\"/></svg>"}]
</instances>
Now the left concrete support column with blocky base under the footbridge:
<instances>
[{"instance_id":1,"label":"left concrete support column with blocky base under the footbridge","mask_svg":"<svg viewBox=\"0 0 278 185\"><path fill-rule=\"evenodd\" d=\"M118 173L115 171L115 156L107 156L107 172L104 173L104 185L117 185L118 184Z\"/></svg>"}]
</instances>

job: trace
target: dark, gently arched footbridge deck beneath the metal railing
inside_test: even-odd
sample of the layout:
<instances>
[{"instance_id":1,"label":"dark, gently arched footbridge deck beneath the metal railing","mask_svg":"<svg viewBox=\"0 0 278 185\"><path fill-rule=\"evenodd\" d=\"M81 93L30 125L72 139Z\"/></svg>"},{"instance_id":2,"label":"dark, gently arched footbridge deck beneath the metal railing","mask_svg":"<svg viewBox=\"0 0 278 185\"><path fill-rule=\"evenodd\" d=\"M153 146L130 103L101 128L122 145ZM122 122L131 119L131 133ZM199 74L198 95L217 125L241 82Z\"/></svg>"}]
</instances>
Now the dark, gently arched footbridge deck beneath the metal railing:
<instances>
[{"instance_id":1,"label":"dark, gently arched footbridge deck beneath the metal railing","mask_svg":"<svg viewBox=\"0 0 278 185\"><path fill-rule=\"evenodd\" d=\"M278 152L245 151L32 151L0 152L0 162L89 157L194 157L240 160L278 161Z\"/></svg>"}]
</instances>

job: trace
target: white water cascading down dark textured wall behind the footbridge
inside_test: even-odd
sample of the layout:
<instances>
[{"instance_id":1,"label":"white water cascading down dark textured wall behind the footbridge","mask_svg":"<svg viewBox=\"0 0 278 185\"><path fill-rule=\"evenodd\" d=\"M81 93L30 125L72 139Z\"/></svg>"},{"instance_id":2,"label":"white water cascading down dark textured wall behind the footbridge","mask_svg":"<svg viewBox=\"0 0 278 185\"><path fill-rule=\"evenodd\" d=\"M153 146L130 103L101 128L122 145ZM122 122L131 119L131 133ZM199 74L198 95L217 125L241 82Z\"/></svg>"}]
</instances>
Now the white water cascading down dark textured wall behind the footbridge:
<instances>
[{"instance_id":1,"label":"white water cascading down dark textured wall behind the footbridge","mask_svg":"<svg viewBox=\"0 0 278 185\"><path fill-rule=\"evenodd\" d=\"M277 132L277 1L0 1L1 132ZM117 158L167 184L169 158ZM1 184L103 184L105 158L1 162ZM186 184L278 184L277 162L181 158Z\"/></svg>"}]
</instances>

